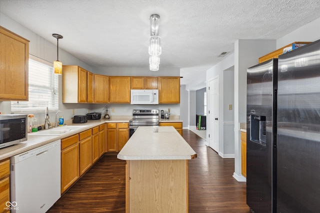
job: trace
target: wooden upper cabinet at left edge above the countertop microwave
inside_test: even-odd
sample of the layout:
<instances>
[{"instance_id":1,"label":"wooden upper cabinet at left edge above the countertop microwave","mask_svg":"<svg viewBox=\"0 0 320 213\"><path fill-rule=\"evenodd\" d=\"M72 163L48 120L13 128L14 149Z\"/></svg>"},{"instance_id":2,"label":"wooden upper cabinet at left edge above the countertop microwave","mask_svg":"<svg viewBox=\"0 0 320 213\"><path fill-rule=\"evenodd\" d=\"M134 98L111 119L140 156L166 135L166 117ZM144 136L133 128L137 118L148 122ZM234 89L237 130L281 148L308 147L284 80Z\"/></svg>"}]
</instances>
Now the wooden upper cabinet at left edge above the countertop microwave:
<instances>
[{"instance_id":1,"label":"wooden upper cabinet at left edge above the countertop microwave","mask_svg":"<svg viewBox=\"0 0 320 213\"><path fill-rule=\"evenodd\" d=\"M28 100L29 41L0 26L0 101Z\"/></svg>"}]
</instances>

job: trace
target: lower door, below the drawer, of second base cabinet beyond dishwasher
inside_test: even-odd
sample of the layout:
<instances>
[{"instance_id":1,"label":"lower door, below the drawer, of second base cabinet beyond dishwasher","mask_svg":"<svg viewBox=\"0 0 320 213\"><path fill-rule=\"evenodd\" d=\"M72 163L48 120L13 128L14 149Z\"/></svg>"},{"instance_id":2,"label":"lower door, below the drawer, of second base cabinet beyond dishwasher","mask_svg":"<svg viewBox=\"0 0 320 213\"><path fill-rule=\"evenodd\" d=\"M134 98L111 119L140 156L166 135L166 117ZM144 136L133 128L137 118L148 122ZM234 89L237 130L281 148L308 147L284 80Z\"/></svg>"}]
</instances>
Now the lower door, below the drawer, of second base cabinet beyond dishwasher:
<instances>
[{"instance_id":1,"label":"lower door, below the drawer, of second base cabinet beyond dishwasher","mask_svg":"<svg viewBox=\"0 0 320 213\"><path fill-rule=\"evenodd\" d=\"M79 143L80 149L80 176L92 166L92 141L91 137Z\"/></svg>"}]
</instances>

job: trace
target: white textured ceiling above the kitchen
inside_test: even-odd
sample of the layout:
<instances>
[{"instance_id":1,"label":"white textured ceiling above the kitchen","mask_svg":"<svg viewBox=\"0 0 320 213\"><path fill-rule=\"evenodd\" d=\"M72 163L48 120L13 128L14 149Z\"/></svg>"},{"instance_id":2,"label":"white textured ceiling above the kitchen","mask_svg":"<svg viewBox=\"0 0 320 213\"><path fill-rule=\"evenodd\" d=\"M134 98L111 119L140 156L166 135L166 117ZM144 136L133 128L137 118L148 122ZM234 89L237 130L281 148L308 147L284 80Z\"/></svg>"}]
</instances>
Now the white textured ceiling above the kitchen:
<instances>
[{"instance_id":1,"label":"white textured ceiling above the kitchen","mask_svg":"<svg viewBox=\"0 0 320 213\"><path fill-rule=\"evenodd\" d=\"M0 0L0 11L91 66L148 66L150 14L160 15L160 68L188 84L237 39L277 39L318 17L319 0ZM203 76L202 76L203 77ZM205 76L204 78L205 79Z\"/></svg>"}]
</instances>

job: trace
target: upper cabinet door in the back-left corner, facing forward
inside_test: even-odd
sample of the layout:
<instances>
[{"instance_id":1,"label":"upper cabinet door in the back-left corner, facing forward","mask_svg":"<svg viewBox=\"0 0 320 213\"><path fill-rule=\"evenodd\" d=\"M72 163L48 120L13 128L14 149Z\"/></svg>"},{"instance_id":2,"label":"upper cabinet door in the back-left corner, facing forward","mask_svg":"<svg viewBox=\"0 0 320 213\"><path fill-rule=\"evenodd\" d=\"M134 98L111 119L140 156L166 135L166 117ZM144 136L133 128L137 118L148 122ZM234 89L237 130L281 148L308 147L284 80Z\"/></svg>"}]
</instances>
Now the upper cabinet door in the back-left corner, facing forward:
<instances>
[{"instance_id":1,"label":"upper cabinet door in the back-left corner, facing forward","mask_svg":"<svg viewBox=\"0 0 320 213\"><path fill-rule=\"evenodd\" d=\"M94 75L94 103L109 102L109 77Z\"/></svg>"}]
</instances>

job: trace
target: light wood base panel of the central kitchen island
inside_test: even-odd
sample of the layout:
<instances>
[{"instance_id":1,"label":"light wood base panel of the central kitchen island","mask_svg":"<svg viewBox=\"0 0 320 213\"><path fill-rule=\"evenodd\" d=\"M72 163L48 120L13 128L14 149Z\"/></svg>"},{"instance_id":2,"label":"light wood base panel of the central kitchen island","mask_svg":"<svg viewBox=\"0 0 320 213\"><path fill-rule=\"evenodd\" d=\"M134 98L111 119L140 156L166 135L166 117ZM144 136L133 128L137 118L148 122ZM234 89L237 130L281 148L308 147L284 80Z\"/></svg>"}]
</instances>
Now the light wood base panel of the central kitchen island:
<instances>
[{"instance_id":1,"label":"light wood base panel of the central kitchen island","mask_svg":"<svg viewBox=\"0 0 320 213\"><path fill-rule=\"evenodd\" d=\"M126 213L187 213L187 160L126 161Z\"/></svg>"}]
</instances>

